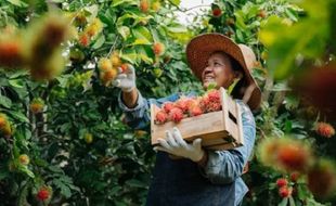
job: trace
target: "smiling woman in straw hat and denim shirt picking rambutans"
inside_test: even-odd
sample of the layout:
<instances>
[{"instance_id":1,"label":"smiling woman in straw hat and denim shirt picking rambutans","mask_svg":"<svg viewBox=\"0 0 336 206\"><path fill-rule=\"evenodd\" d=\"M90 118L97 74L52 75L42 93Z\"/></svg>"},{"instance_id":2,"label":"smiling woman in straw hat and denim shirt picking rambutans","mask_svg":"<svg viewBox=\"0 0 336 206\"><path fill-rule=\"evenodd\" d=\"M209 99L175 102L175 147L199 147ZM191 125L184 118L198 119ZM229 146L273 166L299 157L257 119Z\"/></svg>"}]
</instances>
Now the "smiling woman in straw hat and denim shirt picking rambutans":
<instances>
[{"instance_id":1,"label":"smiling woman in straw hat and denim shirt picking rambutans","mask_svg":"<svg viewBox=\"0 0 336 206\"><path fill-rule=\"evenodd\" d=\"M207 151L201 139L186 143L175 128L166 131L167 140L159 140L154 177L150 186L147 205L238 205L247 192L241 175L255 142L255 120L250 110L258 108L261 92L250 75L256 61L254 52L236 44L221 34L195 37L186 47L186 60L194 75L207 89L210 83L231 92L242 107L245 144L229 151ZM163 99L144 99L135 87L134 69L116 79L121 88L119 106L126 113L129 126L140 129L148 126L148 107L164 102L175 102L179 93ZM192 93L189 95L193 95ZM248 105L246 105L246 104ZM171 156L183 158L171 158Z\"/></svg>"}]
</instances>

